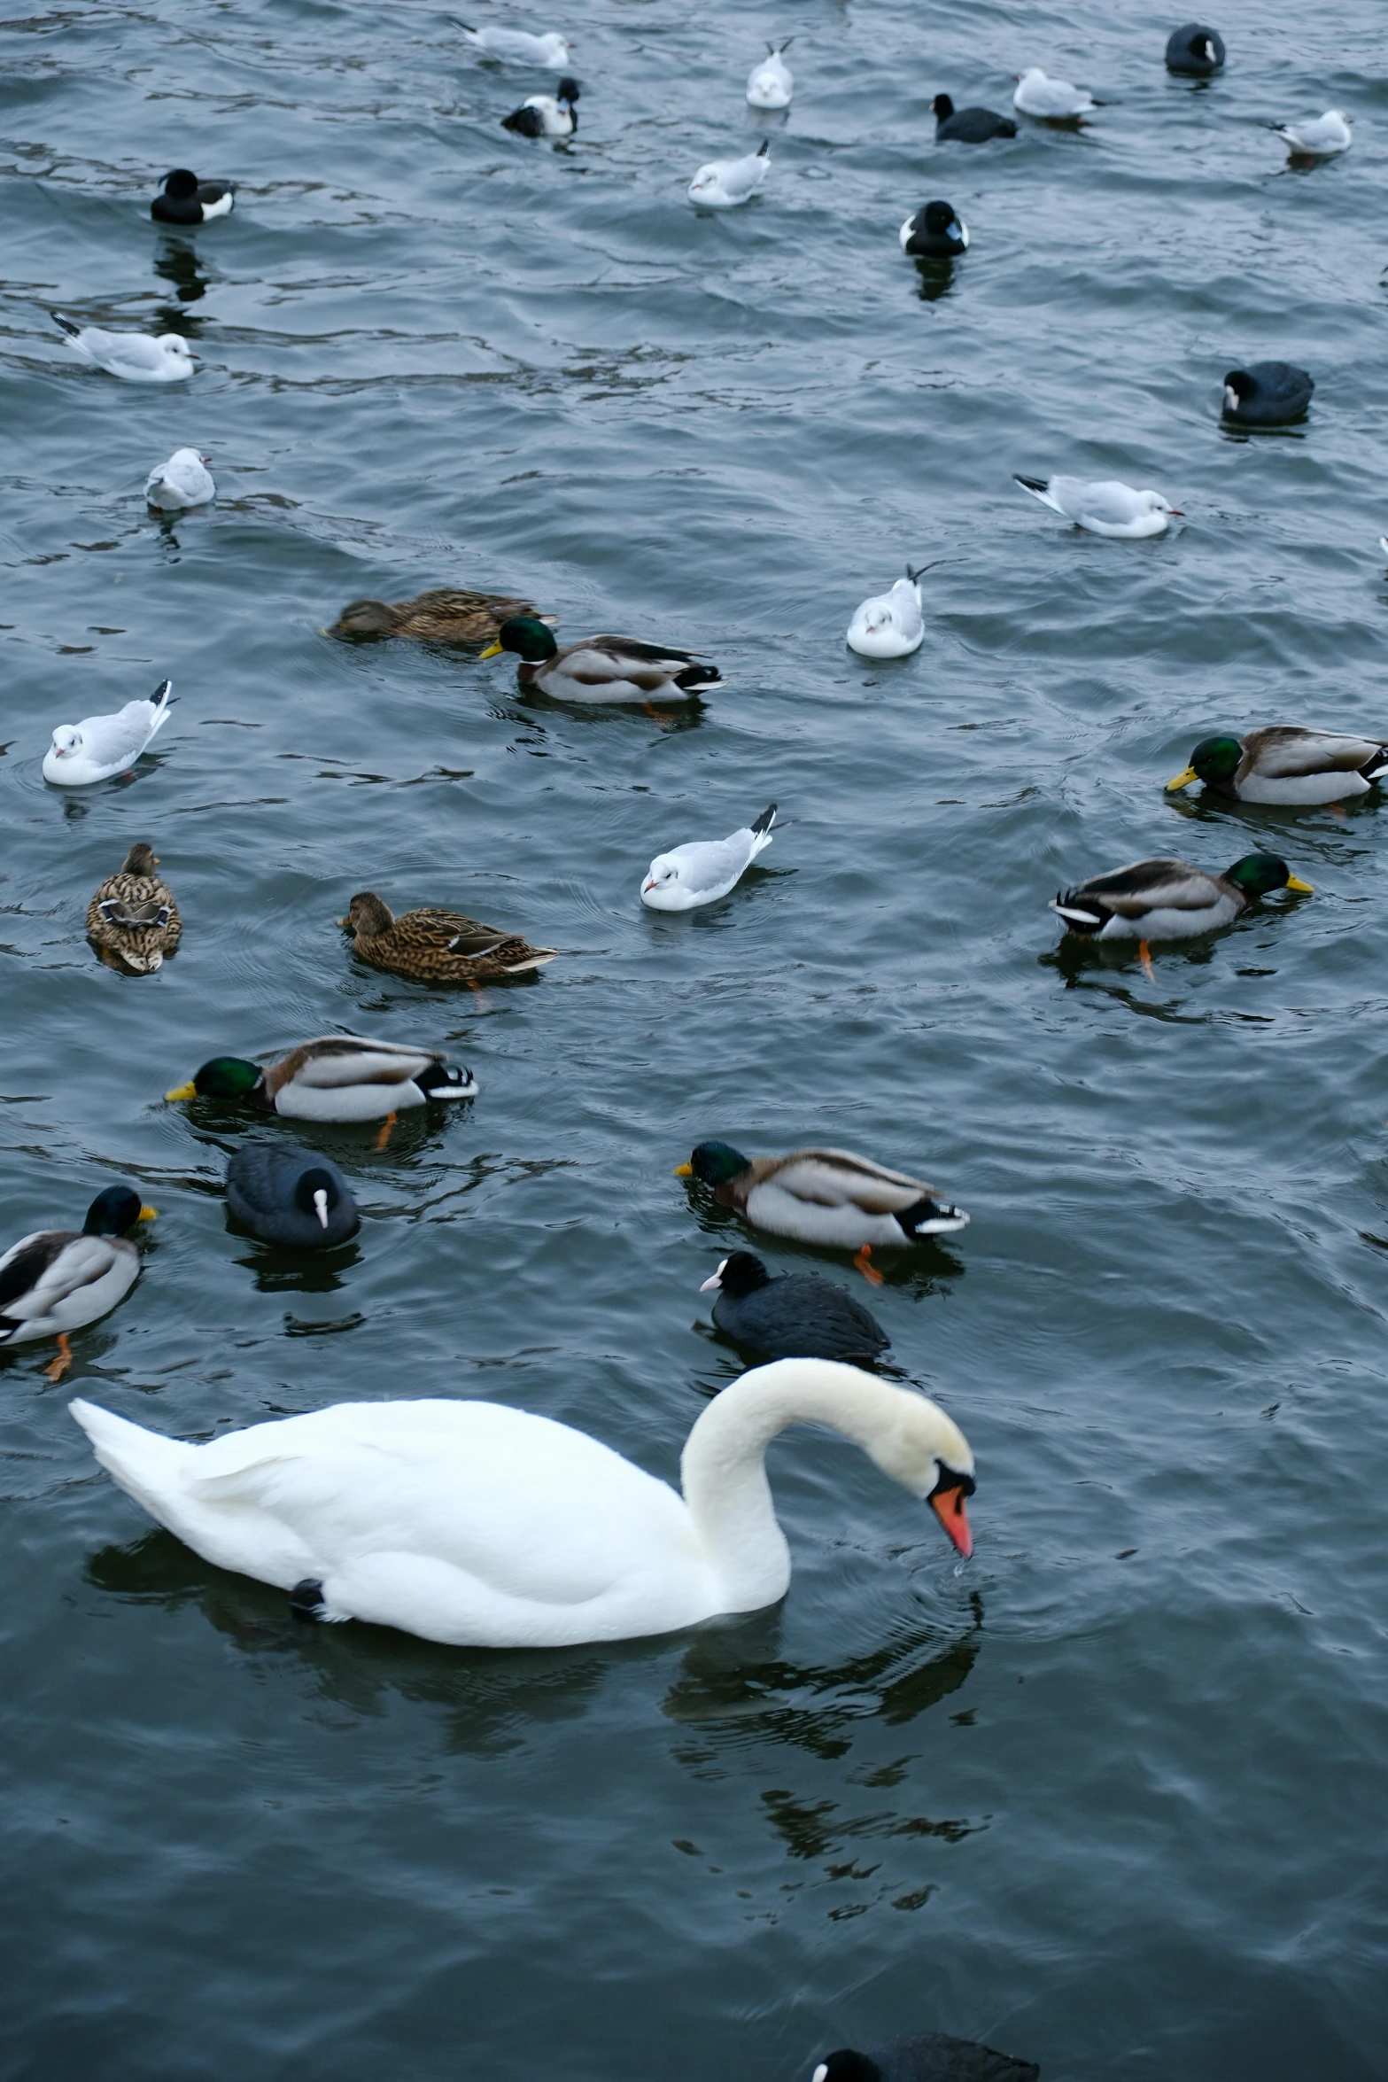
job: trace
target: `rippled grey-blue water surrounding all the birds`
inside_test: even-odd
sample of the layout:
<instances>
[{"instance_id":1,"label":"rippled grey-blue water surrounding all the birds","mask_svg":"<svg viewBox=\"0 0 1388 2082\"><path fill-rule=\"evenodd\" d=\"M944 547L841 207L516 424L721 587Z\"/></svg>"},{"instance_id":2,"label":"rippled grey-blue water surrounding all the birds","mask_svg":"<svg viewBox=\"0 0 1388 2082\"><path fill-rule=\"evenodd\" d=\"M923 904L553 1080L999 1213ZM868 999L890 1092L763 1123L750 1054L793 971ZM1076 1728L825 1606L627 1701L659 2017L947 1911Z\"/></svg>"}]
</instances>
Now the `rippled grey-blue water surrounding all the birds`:
<instances>
[{"instance_id":1,"label":"rippled grey-blue water surrounding all the birds","mask_svg":"<svg viewBox=\"0 0 1388 2082\"><path fill-rule=\"evenodd\" d=\"M0 27L4 1230L112 1176L160 1205L69 1382L0 1370L0 2072L751 2082L939 2026L1072 2082L1380 2076L1388 835L1161 781L1219 725L1388 727L1382 19L1226 6L1211 87L1161 71L1176 15L1093 0L551 19L564 150L497 127L547 81L433 6ZM764 123L745 71L791 31ZM939 87L1005 106L1026 62L1109 106L934 148ZM1355 150L1288 171L1261 123L1334 104ZM693 214L764 129L764 196ZM229 221L150 225L179 162L243 183ZM932 196L953 277L897 250ZM177 325L202 371L121 387L48 306ZM1259 354L1311 366L1311 418L1230 439ZM162 527L139 487L185 441L219 502ZM1051 468L1186 520L1074 535L1009 479ZM926 645L864 664L849 612L907 558ZM508 660L318 635L439 583L726 683L685 727L581 716ZM133 783L44 785L54 722L164 672ZM728 904L641 912L653 852L770 797ZM185 918L154 981L81 935L135 837ZM1057 958L1061 879L1253 843L1315 897L1155 983ZM362 883L566 956L481 1001L383 979L333 929ZM381 1156L323 1135L364 1226L304 1276L225 1230L243 1124L160 1093L333 1026L447 1039L483 1095ZM670 1176L703 1135L972 1210L874 1299L976 1447L966 1570L803 1432L780 1611L554 1655L310 1632L67 1418L491 1395L672 1476L737 1368L695 1328L728 1230Z\"/></svg>"}]
</instances>

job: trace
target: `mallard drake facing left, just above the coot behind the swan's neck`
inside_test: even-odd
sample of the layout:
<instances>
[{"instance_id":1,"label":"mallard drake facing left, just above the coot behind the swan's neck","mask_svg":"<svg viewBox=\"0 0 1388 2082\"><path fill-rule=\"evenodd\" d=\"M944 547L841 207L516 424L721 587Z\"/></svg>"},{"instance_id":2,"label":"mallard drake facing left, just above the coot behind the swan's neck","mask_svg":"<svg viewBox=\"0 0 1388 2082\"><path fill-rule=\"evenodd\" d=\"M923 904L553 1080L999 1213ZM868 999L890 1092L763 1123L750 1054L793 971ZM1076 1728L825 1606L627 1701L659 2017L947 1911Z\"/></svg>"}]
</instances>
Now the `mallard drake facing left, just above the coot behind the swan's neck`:
<instances>
[{"instance_id":1,"label":"mallard drake facing left, just above the coot behind the swan's neck","mask_svg":"<svg viewBox=\"0 0 1388 2082\"><path fill-rule=\"evenodd\" d=\"M753 1228L799 1243L855 1251L853 1264L874 1285L874 1247L920 1243L968 1228L963 1208L936 1199L934 1187L909 1172L889 1172L849 1149L791 1149L785 1158L745 1158L728 1143L699 1143L676 1178L712 1187L720 1208L732 1208Z\"/></svg>"}]
</instances>

